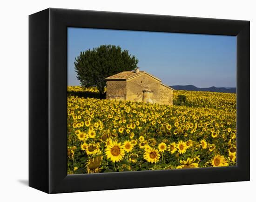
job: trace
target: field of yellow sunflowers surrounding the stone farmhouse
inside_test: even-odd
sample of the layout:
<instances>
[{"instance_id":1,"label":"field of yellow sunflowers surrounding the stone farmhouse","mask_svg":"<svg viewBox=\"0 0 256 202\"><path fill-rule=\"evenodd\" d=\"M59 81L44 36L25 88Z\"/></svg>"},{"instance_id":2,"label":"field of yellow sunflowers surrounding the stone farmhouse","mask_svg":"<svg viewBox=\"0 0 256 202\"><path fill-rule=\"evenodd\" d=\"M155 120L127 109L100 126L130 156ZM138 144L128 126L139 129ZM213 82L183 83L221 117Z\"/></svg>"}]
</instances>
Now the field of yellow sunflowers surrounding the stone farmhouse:
<instances>
[{"instance_id":1,"label":"field of yellow sunflowers surrounding the stone farmhouse","mask_svg":"<svg viewBox=\"0 0 256 202\"><path fill-rule=\"evenodd\" d=\"M181 106L67 94L67 174L236 165L236 94L174 91Z\"/></svg>"}]
</instances>

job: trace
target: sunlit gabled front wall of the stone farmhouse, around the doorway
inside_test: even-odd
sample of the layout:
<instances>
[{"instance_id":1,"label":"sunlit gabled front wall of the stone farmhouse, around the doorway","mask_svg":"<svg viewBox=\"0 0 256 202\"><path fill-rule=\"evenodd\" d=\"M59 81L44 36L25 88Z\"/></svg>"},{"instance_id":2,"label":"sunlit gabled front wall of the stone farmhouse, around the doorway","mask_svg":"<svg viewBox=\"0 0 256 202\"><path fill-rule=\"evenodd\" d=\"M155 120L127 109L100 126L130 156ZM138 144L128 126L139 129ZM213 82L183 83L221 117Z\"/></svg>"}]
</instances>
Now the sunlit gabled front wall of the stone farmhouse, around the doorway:
<instances>
[{"instance_id":1,"label":"sunlit gabled front wall of the stone farmhouse, around the doorway","mask_svg":"<svg viewBox=\"0 0 256 202\"><path fill-rule=\"evenodd\" d=\"M160 81L155 80L147 74L142 74L138 77L127 81L126 85L126 100L127 101L143 101L142 90L152 90L153 103L159 102Z\"/></svg>"}]
</instances>

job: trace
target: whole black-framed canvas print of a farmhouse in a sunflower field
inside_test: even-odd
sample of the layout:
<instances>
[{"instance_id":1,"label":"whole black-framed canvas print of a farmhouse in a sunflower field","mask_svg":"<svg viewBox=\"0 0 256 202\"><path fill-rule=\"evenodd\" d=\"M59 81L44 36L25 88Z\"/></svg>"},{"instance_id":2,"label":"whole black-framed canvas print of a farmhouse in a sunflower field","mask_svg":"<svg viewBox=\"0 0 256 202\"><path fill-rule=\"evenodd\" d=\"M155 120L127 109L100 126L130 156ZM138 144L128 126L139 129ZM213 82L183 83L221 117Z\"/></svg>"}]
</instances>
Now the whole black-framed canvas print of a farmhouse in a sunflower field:
<instances>
[{"instance_id":1,"label":"whole black-framed canvas print of a farmhouse in a sunflower field","mask_svg":"<svg viewBox=\"0 0 256 202\"><path fill-rule=\"evenodd\" d=\"M29 186L249 180L249 21L29 16Z\"/></svg>"}]
</instances>

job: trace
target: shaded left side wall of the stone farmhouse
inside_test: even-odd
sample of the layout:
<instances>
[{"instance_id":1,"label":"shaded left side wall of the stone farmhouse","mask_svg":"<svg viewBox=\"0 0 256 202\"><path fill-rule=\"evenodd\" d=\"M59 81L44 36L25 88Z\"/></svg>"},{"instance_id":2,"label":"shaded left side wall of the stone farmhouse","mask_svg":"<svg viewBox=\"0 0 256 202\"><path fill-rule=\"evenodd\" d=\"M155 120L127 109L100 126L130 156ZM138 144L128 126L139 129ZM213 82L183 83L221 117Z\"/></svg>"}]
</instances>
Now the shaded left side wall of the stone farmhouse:
<instances>
[{"instance_id":1,"label":"shaded left side wall of the stone farmhouse","mask_svg":"<svg viewBox=\"0 0 256 202\"><path fill-rule=\"evenodd\" d=\"M107 99L126 100L126 81L107 81Z\"/></svg>"}]
</instances>

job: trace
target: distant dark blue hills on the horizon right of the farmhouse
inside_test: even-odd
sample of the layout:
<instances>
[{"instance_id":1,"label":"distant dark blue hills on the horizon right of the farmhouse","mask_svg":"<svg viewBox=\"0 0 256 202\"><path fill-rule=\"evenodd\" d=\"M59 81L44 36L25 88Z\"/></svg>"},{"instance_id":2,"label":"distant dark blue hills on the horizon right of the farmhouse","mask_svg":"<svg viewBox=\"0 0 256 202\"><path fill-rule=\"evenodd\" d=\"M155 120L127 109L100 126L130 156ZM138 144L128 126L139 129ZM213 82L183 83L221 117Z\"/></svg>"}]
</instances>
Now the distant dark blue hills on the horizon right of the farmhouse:
<instances>
[{"instance_id":1,"label":"distant dark blue hills on the horizon right of the farmhouse","mask_svg":"<svg viewBox=\"0 0 256 202\"><path fill-rule=\"evenodd\" d=\"M186 86L170 86L175 90L192 90L192 91L209 91L209 92L218 92L218 93L236 93L236 88L228 88L228 87L209 87L209 88L197 88L193 85L186 85Z\"/></svg>"}]
</instances>

